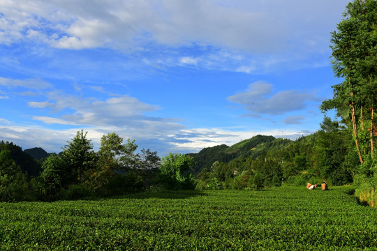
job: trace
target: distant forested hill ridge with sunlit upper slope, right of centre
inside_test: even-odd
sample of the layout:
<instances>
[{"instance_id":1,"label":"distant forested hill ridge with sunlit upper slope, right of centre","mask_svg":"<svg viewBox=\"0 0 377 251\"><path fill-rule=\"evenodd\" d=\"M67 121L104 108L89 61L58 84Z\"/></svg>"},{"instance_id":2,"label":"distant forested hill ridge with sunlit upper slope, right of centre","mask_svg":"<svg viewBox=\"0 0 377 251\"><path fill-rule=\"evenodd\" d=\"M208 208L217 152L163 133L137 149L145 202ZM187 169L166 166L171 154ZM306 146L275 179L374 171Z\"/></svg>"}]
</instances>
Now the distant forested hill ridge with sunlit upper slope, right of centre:
<instances>
[{"instance_id":1,"label":"distant forested hill ridge with sunlit upper slope, right of centre","mask_svg":"<svg viewBox=\"0 0 377 251\"><path fill-rule=\"evenodd\" d=\"M194 173L198 174L204 168L209 168L215 161L230 162L235 158L246 158L252 155L258 157L260 153L268 151L269 147L276 144L288 144L289 139L275 139L273 136L256 135L251 139L242 140L232 146L225 144L202 149L199 153L188 153L197 164L193 167Z\"/></svg>"}]
</instances>

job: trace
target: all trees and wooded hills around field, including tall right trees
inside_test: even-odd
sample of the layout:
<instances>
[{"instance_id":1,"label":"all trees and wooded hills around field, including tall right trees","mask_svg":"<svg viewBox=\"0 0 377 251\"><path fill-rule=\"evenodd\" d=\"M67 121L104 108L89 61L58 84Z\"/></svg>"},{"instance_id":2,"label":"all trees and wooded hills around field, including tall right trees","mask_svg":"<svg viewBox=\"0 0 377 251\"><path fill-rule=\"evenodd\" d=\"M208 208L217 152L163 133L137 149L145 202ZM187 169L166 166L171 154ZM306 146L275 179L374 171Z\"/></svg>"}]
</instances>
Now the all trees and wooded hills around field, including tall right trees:
<instances>
[{"instance_id":1,"label":"all trees and wooded hills around field, including tall right trees","mask_svg":"<svg viewBox=\"0 0 377 251\"><path fill-rule=\"evenodd\" d=\"M59 154L0 144L0 200L75 199L150 189L263 189L281 185L353 183L364 201L377 201L377 1L348 3L331 33L332 68L340 83L320 109L320 130L295 141L258 135L233 146L214 146L161 159L137 151L116 133L99 151L82 130ZM41 155L36 156L36 154ZM33 159L34 155L36 159ZM38 159L38 160L37 160Z\"/></svg>"}]
</instances>

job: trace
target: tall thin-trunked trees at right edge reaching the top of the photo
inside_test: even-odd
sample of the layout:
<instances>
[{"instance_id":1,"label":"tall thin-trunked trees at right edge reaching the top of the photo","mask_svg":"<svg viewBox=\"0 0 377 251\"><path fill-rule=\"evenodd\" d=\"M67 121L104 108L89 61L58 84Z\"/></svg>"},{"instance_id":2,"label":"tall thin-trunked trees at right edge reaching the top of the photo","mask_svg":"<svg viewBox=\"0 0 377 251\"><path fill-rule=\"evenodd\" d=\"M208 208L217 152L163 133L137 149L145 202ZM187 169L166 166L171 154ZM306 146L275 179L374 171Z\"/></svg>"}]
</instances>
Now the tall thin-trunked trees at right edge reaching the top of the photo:
<instances>
[{"instance_id":1,"label":"tall thin-trunked trees at right edge reaching the top of the photo","mask_svg":"<svg viewBox=\"0 0 377 251\"><path fill-rule=\"evenodd\" d=\"M332 86L334 97L325 100L321 109L337 109L352 128L362 164L374 158L376 144L377 1L352 1L343 17L331 38L332 68L343 82Z\"/></svg>"}]
</instances>

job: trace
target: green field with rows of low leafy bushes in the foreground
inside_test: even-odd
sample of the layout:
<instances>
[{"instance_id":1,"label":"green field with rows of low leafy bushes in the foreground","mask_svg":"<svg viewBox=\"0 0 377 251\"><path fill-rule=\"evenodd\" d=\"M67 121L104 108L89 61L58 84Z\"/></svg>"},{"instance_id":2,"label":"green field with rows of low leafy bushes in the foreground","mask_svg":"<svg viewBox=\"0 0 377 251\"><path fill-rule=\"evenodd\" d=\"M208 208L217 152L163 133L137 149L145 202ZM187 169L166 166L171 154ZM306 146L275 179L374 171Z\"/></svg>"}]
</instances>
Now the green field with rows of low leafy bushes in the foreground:
<instances>
[{"instance_id":1,"label":"green field with rows of low leafy bushes in the foreground","mask_svg":"<svg viewBox=\"0 0 377 251\"><path fill-rule=\"evenodd\" d=\"M1 203L0 250L377 250L377 210L347 189Z\"/></svg>"}]
</instances>

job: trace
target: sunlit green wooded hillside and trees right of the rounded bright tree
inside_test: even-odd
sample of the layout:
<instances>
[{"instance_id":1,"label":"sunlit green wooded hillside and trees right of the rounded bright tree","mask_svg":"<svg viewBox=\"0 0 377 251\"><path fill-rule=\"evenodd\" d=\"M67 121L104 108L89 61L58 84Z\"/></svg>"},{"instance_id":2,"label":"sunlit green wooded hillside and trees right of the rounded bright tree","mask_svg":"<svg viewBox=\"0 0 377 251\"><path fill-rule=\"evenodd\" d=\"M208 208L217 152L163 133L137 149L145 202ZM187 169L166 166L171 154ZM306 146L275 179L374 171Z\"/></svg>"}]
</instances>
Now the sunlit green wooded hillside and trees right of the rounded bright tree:
<instances>
[{"instance_id":1,"label":"sunlit green wooded hillside and trees right of the rounded bright tree","mask_svg":"<svg viewBox=\"0 0 377 251\"><path fill-rule=\"evenodd\" d=\"M362 173L352 144L347 128L325 116L318 132L296 141L257 135L234 146L203 149L191 156L199 163L222 155L212 165L202 161L202 166L196 167L201 169L201 189L260 189L323 181L345 185ZM238 157L221 161L228 153Z\"/></svg>"}]
</instances>

